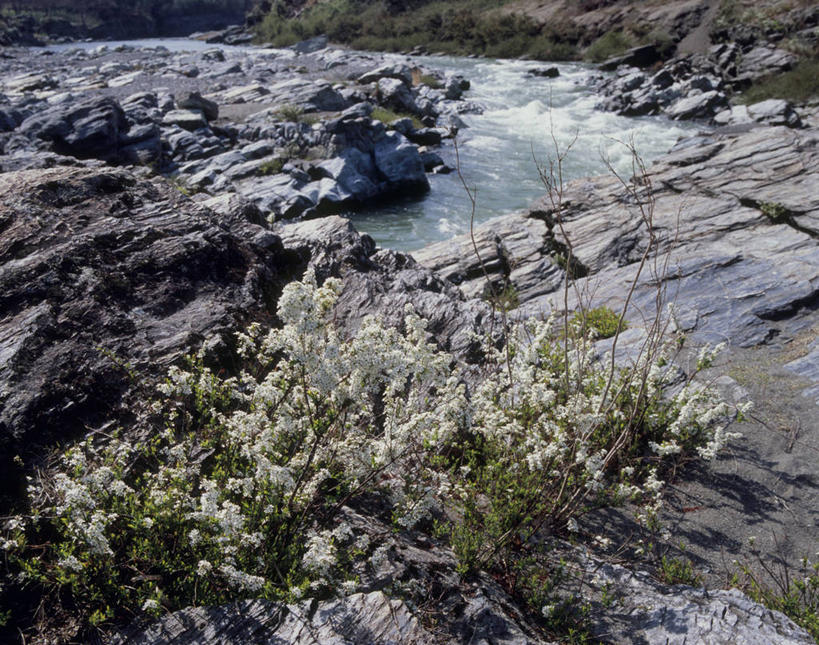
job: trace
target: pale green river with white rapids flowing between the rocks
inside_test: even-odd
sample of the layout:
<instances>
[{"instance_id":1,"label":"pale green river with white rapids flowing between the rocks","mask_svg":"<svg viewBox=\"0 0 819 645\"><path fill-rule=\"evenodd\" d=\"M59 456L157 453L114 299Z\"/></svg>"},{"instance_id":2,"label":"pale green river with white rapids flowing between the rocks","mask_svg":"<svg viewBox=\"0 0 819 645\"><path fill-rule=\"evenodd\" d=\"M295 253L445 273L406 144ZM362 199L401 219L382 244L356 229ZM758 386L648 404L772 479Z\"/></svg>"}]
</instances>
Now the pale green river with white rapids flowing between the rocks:
<instances>
[{"instance_id":1,"label":"pale green river with white rapids flowing between the rocks","mask_svg":"<svg viewBox=\"0 0 819 645\"><path fill-rule=\"evenodd\" d=\"M195 40L152 39L56 48L101 44L161 45L176 52L214 47ZM406 60L398 55L385 56ZM547 164L550 157L555 157L556 145L562 152L571 144L563 163L564 181L610 172L609 164L630 176L632 158L626 143L633 143L641 158L649 162L697 128L664 117L631 118L596 110L598 98L588 86L596 72L582 63L451 56L415 57L413 61L469 79L472 87L464 98L484 108L482 114L461 115L468 127L459 132L457 139L461 173L467 186L476 190L476 223L525 209L544 195L538 164ZM560 72L557 78L528 74L532 69L553 66ZM456 165L452 142L445 142L436 152L448 165ZM379 246L402 251L468 232L471 203L457 173L429 175L429 181L431 190L422 198L379 204L345 215Z\"/></svg>"}]
</instances>

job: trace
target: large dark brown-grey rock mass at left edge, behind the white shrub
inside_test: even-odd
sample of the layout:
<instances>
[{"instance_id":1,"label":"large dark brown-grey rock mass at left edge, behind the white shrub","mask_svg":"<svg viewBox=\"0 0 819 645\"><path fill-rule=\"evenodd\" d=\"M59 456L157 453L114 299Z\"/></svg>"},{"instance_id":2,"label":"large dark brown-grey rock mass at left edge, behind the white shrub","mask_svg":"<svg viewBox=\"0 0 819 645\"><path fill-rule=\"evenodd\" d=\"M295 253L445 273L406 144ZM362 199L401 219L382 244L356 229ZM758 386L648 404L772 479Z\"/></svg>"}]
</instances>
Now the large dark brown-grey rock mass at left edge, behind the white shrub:
<instances>
[{"instance_id":1,"label":"large dark brown-grey rock mass at left edge, behind the white shrub","mask_svg":"<svg viewBox=\"0 0 819 645\"><path fill-rule=\"evenodd\" d=\"M164 181L60 167L4 173L0 189L0 249L16 249L0 255L0 497L12 457L30 463L143 397L122 364L162 378L203 338L269 315L298 271L280 245L246 241L246 219Z\"/></svg>"}]
</instances>

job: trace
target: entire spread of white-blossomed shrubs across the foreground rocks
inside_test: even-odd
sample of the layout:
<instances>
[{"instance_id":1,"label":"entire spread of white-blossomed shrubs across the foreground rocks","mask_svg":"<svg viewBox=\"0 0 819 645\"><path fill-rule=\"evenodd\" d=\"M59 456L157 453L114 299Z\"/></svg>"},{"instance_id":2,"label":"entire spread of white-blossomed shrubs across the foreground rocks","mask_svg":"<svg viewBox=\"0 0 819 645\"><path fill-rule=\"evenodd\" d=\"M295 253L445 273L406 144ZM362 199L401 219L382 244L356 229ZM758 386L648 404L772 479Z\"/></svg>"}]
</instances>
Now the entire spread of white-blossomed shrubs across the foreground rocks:
<instances>
[{"instance_id":1,"label":"entire spread of white-blossomed shrubs across the foreground rocks","mask_svg":"<svg viewBox=\"0 0 819 645\"><path fill-rule=\"evenodd\" d=\"M707 388L670 393L671 369L645 361L611 372L553 321L487 347L468 397L411 309L403 333L367 318L344 340L339 286L289 285L281 328L240 335L239 375L195 359L172 369L161 431L89 438L32 482L32 516L3 538L24 576L67 592L90 623L352 592L342 564L386 558L335 519L365 493L389 501L397 529L435 515L469 571L542 526L572 530L590 505L640 498L656 513L663 464L729 437Z\"/></svg>"}]
</instances>

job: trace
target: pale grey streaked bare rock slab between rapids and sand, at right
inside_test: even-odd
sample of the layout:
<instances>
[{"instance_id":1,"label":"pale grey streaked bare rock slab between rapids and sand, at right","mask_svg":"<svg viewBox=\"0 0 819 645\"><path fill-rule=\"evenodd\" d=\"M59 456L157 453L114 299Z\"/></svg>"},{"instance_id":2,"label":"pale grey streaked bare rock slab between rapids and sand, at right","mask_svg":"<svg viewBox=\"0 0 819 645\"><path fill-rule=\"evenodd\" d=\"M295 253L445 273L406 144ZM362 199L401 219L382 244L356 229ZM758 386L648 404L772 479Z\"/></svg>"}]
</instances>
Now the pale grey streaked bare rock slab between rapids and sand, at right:
<instances>
[{"instance_id":1,"label":"pale grey streaked bare rock slab between rapids and sand, at right","mask_svg":"<svg viewBox=\"0 0 819 645\"><path fill-rule=\"evenodd\" d=\"M649 169L651 199L639 187L637 194L651 211L660 252L670 254L664 279L681 326L703 340L752 346L815 308L817 168L813 132L780 126L683 140ZM618 309L648 243L640 204L614 177L572 182L563 199L562 212L544 200L528 214L478 227L483 265L514 289L521 313L542 313L563 284L570 245L580 291ZM414 257L470 296L484 289L468 236ZM655 280L642 276L635 311L651 315Z\"/></svg>"}]
</instances>

